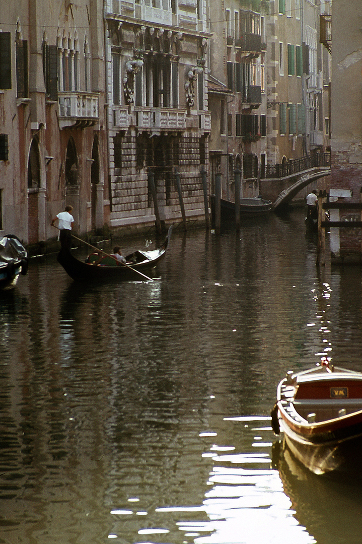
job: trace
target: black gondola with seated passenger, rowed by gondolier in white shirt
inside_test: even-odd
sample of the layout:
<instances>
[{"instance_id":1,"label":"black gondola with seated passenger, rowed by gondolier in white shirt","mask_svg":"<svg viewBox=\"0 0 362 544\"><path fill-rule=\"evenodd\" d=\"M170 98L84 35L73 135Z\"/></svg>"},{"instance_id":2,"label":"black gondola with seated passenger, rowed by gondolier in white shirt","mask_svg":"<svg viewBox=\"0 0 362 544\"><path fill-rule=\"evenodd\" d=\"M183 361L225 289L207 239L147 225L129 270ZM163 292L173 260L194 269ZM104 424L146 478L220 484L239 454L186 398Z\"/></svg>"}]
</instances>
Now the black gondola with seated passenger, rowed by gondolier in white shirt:
<instances>
[{"instance_id":1,"label":"black gondola with seated passenger, rowed by gondolier in white shirt","mask_svg":"<svg viewBox=\"0 0 362 544\"><path fill-rule=\"evenodd\" d=\"M172 226L168 229L165 242L158 249L152 251L134 251L126 255L126 264L122 264L102 251L95 251L85 261L74 257L71 251L61 249L58 262L66 273L76 281L131 281L144 280L144 274L159 264L166 255L170 243Z\"/></svg>"}]
</instances>

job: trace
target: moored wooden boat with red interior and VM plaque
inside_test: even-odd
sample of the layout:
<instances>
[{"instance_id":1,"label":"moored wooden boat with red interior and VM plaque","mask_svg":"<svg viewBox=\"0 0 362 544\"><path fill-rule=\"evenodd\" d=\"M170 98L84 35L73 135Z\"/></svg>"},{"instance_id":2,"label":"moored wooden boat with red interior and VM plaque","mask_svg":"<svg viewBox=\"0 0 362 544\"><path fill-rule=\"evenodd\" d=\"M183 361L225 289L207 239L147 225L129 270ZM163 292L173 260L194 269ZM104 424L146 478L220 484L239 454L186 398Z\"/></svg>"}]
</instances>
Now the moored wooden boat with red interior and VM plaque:
<instances>
[{"instance_id":1,"label":"moored wooden boat with red interior and VM plaque","mask_svg":"<svg viewBox=\"0 0 362 544\"><path fill-rule=\"evenodd\" d=\"M329 361L288 372L277 389L272 428L315 474L361 469L362 373Z\"/></svg>"}]
</instances>

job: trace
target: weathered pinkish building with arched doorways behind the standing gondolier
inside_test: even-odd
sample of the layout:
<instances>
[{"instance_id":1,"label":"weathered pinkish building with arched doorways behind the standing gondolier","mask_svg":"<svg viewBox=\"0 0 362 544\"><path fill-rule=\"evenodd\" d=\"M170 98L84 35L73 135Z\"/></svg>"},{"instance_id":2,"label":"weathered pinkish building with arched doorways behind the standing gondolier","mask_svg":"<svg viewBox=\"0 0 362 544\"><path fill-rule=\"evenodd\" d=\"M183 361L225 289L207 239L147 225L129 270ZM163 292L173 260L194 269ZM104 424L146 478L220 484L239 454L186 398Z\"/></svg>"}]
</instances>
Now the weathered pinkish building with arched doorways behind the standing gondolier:
<instances>
[{"instance_id":1,"label":"weathered pinkish building with arched doorways behind the standing gondolier","mask_svg":"<svg viewBox=\"0 0 362 544\"><path fill-rule=\"evenodd\" d=\"M65 205L79 233L107 221L102 5L2 5L0 232L29 246L54 237Z\"/></svg>"}]
</instances>

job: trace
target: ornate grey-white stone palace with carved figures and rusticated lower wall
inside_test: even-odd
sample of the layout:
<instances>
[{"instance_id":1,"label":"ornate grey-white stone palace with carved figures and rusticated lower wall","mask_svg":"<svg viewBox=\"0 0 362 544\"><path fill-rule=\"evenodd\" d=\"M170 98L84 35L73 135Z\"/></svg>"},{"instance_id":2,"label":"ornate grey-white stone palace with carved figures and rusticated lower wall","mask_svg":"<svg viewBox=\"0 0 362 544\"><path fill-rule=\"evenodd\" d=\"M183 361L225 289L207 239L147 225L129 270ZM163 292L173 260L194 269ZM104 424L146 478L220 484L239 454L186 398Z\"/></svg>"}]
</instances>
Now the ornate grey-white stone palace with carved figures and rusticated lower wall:
<instances>
[{"instance_id":1,"label":"ornate grey-white stone palace with carved figures and rusticated lower wall","mask_svg":"<svg viewBox=\"0 0 362 544\"><path fill-rule=\"evenodd\" d=\"M110 226L205 220L206 3L107 0Z\"/></svg>"}]
</instances>

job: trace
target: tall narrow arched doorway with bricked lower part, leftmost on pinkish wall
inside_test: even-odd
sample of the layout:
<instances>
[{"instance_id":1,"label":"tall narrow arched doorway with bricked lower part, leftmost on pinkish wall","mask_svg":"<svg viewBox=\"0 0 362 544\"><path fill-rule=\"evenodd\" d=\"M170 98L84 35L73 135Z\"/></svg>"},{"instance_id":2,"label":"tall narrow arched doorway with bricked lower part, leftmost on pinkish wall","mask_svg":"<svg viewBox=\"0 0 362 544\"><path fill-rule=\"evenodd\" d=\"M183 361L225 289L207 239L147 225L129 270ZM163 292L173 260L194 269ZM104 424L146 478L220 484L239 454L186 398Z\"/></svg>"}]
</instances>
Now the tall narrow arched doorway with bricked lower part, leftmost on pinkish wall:
<instances>
[{"instance_id":1,"label":"tall narrow arched doorway with bricked lower part, leftmost on pinkish wall","mask_svg":"<svg viewBox=\"0 0 362 544\"><path fill-rule=\"evenodd\" d=\"M41 185L39 144L32 140L28 157L28 243L39 242L39 189Z\"/></svg>"}]
</instances>

